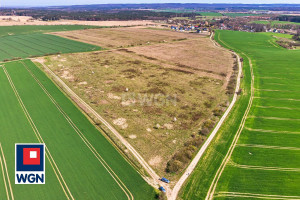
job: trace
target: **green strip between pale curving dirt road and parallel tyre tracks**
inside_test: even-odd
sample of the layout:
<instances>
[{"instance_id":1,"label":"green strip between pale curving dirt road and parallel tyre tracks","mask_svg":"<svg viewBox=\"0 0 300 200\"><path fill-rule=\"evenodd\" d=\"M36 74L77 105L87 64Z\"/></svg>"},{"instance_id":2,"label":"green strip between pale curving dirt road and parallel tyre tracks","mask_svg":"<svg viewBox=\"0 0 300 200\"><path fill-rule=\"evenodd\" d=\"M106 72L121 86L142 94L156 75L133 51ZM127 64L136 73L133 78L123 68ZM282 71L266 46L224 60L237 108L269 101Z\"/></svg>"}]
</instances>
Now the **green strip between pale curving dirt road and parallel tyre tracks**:
<instances>
[{"instance_id":1,"label":"green strip between pale curving dirt road and parallel tyre tracks","mask_svg":"<svg viewBox=\"0 0 300 200\"><path fill-rule=\"evenodd\" d=\"M216 34L215 40L220 42L218 34ZM244 57L243 74L244 78L241 79L240 85L243 92L238 97L235 106L219 129L215 139L200 159L194 172L182 187L179 193L181 199L205 199L206 197L210 184L214 179L214 174L228 151L249 102L251 74L247 57Z\"/></svg>"}]
</instances>

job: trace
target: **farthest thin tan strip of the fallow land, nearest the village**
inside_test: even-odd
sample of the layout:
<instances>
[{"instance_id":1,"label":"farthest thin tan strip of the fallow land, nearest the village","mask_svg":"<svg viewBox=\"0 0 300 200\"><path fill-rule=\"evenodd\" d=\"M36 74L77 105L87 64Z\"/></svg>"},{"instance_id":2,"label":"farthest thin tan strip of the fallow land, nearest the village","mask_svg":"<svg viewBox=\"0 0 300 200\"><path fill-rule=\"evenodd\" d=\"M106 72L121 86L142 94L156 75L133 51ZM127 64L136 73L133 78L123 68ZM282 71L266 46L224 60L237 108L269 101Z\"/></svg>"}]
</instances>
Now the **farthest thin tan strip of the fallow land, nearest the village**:
<instances>
[{"instance_id":1,"label":"farthest thin tan strip of the fallow land, nearest the village","mask_svg":"<svg viewBox=\"0 0 300 200\"><path fill-rule=\"evenodd\" d=\"M57 32L51 34L98 45L104 48L124 48L131 46L150 45L153 43L167 43L176 40L199 37L199 35L195 34L145 28L91 29Z\"/></svg>"}]
</instances>

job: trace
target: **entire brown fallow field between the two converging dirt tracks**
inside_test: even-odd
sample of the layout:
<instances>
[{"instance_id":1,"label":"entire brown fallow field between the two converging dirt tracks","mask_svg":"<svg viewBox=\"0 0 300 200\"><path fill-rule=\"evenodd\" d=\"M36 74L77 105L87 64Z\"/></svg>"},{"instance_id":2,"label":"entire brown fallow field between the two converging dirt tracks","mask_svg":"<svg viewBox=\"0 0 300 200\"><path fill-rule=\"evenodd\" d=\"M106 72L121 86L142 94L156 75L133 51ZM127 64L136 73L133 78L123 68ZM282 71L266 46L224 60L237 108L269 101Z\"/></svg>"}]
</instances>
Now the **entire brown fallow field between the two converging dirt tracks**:
<instances>
[{"instance_id":1,"label":"entire brown fallow field between the two converging dirt tracks","mask_svg":"<svg viewBox=\"0 0 300 200\"><path fill-rule=\"evenodd\" d=\"M48 56L43 62L158 174L177 179L228 105L233 56L207 36L166 30L56 34L111 48Z\"/></svg>"}]
</instances>

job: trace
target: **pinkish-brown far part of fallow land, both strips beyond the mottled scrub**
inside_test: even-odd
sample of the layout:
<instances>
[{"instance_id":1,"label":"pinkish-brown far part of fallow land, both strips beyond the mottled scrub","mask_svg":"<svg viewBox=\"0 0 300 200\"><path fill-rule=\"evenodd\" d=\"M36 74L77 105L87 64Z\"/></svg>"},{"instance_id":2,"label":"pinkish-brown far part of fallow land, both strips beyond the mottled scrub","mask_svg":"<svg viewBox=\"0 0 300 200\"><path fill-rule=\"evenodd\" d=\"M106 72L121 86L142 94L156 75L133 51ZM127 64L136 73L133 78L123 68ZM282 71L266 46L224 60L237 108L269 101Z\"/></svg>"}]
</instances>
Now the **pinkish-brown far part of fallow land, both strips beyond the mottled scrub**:
<instances>
[{"instance_id":1,"label":"pinkish-brown far part of fallow land, both strips beyond the mottled scrub","mask_svg":"<svg viewBox=\"0 0 300 200\"><path fill-rule=\"evenodd\" d=\"M108 49L119 48L116 53L220 80L229 80L233 66L232 55L217 49L205 35L146 28L76 30L52 34ZM224 82L226 86L227 82Z\"/></svg>"}]
</instances>

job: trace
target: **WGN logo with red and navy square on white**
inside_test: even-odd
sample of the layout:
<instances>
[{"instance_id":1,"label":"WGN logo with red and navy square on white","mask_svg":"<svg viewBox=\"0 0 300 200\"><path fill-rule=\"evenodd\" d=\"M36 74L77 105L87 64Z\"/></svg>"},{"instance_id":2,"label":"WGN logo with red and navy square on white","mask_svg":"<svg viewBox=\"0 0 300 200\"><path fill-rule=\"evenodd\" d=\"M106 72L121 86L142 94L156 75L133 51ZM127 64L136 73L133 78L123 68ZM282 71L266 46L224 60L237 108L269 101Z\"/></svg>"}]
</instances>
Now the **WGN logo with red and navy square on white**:
<instances>
[{"instance_id":1,"label":"WGN logo with red and navy square on white","mask_svg":"<svg viewBox=\"0 0 300 200\"><path fill-rule=\"evenodd\" d=\"M16 144L16 184L45 184L45 144Z\"/></svg>"}]
</instances>

